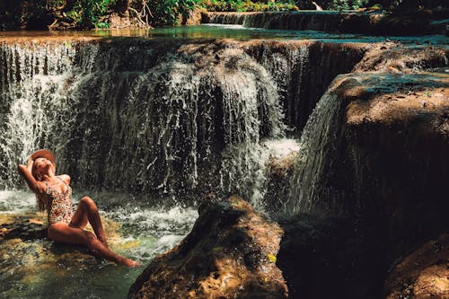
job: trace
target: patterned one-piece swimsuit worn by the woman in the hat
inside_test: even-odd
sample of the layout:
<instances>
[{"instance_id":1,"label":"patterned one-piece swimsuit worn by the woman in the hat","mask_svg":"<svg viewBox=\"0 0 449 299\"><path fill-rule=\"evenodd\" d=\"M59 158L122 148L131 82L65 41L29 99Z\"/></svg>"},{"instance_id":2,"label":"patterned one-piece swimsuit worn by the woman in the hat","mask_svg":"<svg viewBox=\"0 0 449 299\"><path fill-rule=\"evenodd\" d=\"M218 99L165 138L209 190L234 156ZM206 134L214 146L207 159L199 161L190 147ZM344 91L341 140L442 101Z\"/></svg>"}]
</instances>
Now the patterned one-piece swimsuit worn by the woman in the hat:
<instances>
[{"instance_id":1,"label":"patterned one-piece swimsuit worn by the woman in the hat","mask_svg":"<svg viewBox=\"0 0 449 299\"><path fill-rule=\"evenodd\" d=\"M72 188L66 184L64 180L57 177L66 185L66 192L62 193L48 186L47 181L44 181L47 185L45 192L48 195L48 225L56 224L58 222L70 223L74 210L72 207Z\"/></svg>"}]
</instances>

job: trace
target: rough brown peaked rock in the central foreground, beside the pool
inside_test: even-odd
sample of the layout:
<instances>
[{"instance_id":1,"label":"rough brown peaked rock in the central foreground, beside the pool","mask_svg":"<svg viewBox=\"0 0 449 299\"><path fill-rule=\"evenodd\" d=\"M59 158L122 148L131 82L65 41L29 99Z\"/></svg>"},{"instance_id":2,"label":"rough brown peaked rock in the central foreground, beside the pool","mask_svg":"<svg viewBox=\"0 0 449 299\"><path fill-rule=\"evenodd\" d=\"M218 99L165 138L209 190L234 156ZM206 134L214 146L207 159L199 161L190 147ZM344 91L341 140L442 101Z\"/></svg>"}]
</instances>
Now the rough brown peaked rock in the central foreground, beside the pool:
<instances>
[{"instance_id":1,"label":"rough brown peaked rock in the central foreground, beside the pool","mask_svg":"<svg viewBox=\"0 0 449 299\"><path fill-rule=\"evenodd\" d=\"M192 231L145 268L128 298L286 298L282 233L241 198L205 200Z\"/></svg>"}]
</instances>

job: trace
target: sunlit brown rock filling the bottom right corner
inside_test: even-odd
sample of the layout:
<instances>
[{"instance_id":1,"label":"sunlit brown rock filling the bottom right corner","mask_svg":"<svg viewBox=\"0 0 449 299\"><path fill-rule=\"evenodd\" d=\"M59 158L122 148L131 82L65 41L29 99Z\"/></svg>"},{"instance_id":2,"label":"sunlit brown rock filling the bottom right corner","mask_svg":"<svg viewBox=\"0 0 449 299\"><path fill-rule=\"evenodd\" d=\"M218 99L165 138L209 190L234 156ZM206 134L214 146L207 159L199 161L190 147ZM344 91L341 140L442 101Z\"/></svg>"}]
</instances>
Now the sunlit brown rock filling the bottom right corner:
<instances>
[{"instance_id":1,"label":"sunlit brown rock filling the bottom right corner","mask_svg":"<svg viewBox=\"0 0 449 299\"><path fill-rule=\"evenodd\" d=\"M449 234L402 259L389 274L384 292L386 299L449 298Z\"/></svg>"}]
</instances>

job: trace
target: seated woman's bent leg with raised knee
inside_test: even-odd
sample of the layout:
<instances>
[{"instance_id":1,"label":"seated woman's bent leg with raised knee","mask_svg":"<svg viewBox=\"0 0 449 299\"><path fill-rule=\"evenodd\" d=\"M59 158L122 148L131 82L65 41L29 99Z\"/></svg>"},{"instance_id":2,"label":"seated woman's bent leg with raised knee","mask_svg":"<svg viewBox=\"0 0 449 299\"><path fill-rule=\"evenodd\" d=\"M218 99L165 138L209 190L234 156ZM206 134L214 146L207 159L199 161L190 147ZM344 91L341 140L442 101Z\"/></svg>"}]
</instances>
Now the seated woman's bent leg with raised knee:
<instances>
[{"instance_id":1,"label":"seated woman's bent leg with raised knee","mask_svg":"<svg viewBox=\"0 0 449 299\"><path fill-rule=\"evenodd\" d=\"M106 242L106 234L101 224L100 214L98 213L97 205L92 198L81 198L78 207L76 207L75 214L70 221L70 226L75 228L84 229L85 225L89 222L92 225L93 232L95 232L98 240L108 247Z\"/></svg>"}]
</instances>

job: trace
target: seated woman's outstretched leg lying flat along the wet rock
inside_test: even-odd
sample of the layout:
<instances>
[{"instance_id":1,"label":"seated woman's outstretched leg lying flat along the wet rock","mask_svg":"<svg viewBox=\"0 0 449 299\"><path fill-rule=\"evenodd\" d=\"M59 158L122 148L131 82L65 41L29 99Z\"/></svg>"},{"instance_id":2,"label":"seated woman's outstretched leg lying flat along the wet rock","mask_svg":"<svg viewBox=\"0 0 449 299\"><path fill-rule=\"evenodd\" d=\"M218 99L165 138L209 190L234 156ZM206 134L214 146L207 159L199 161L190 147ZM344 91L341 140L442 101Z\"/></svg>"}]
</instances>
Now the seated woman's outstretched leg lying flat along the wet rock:
<instances>
[{"instance_id":1,"label":"seated woman's outstretched leg lying flat along the wet rock","mask_svg":"<svg viewBox=\"0 0 449 299\"><path fill-rule=\"evenodd\" d=\"M51 224L48 227L48 237L56 242L85 245L94 256L112 260L120 265L127 267L139 266L136 261L121 257L117 253L110 251L93 233L84 231L81 228L70 227L65 223Z\"/></svg>"}]
</instances>

